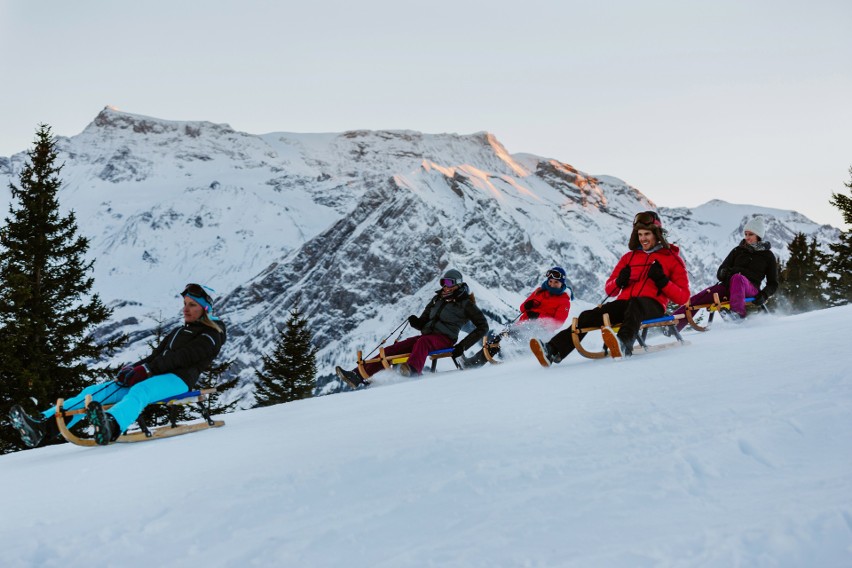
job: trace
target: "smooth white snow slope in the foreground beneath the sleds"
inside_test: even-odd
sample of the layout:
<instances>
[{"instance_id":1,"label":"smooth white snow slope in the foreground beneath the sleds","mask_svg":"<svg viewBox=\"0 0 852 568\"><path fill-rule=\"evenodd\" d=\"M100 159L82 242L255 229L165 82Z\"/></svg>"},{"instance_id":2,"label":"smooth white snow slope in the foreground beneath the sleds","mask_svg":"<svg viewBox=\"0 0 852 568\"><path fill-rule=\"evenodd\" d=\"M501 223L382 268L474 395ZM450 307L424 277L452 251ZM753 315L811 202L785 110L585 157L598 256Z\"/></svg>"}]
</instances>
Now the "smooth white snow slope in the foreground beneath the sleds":
<instances>
[{"instance_id":1,"label":"smooth white snow slope in the foreground beneath the sleds","mask_svg":"<svg viewBox=\"0 0 852 568\"><path fill-rule=\"evenodd\" d=\"M850 318L384 373L218 430L5 455L0 564L852 566Z\"/></svg>"}]
</instances>

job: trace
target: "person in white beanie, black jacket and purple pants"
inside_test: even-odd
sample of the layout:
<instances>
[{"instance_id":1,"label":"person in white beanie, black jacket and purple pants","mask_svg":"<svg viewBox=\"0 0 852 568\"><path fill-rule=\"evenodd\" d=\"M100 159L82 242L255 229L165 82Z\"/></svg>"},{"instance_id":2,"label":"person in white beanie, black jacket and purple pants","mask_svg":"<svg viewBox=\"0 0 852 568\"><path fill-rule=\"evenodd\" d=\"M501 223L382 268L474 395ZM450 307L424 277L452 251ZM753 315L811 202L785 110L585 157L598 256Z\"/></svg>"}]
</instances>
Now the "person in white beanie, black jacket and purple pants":
<instances>
[{"instance_id":1,"label":"person in white beanie, black jacket and purple pants","mask_svg":"<svg viewBox=\"0 0 852 568\"><path fill-rule=\"evenodd\" d=\"M763 218L753 217L743 227L743 240L728 253L716 271L717 284L695 294L689 299L690 305L709 304L713 296L719 294L722 301L729 301L731 311L729 319L735 322L746 317L745 299L754 298L753 303L762 306L778 289L778 262L770 250L772 244L763 240L766 228ZM766 280L761 290L760 284ZM678 308L674 314L686 313L686 306ZM677 323L680 331L686 326L686 319Z\"/></svg>"}]
</instances>

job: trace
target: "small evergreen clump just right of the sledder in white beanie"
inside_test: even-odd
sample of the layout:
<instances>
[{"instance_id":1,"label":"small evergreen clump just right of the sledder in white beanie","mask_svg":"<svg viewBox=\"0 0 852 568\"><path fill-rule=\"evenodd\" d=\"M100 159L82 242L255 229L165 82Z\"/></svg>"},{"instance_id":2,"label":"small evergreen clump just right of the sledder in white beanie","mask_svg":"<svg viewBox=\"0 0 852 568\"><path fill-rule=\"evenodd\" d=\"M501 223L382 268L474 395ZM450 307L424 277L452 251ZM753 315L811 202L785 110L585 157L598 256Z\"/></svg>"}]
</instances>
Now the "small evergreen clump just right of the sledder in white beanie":
<instances>
[{"instance_id":1,"label":"small evergreen clump just right of the sledder in white beanie","mask_svg":"<svg viewBox=\"0 0 852 568\"><path fill-rule=\"evenodd\" d=\"M790 259L781 269L779 287L782 306L794 313L825 307L828 258L816 236L808 242L804 233L796 233L788 249Z\"/></svg>"}]
</instances>

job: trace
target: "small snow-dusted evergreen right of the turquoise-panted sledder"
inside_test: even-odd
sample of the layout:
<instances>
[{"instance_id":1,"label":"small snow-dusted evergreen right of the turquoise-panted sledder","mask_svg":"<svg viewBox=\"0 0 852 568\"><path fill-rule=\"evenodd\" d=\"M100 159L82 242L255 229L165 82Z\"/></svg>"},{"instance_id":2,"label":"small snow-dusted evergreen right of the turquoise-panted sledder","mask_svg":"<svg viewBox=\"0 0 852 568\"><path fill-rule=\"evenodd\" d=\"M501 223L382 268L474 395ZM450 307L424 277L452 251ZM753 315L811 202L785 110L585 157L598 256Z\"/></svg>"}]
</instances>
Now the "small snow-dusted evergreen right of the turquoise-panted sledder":
<instances>
[{"instance_id":1,"label":"small snow-dusted evergreen right of the turquoise-panted sledder","mask_svg":"<svg viewBox=\"0 0 852 568\"><path fill-rule=\"evenodd\" d=\"M255 370L255 407L313 396L317 348L311 340L308 322L302 317L297 300L286 327L279 330L272 355L261 356L263 372Z\"/></svg>"}]
</instances>

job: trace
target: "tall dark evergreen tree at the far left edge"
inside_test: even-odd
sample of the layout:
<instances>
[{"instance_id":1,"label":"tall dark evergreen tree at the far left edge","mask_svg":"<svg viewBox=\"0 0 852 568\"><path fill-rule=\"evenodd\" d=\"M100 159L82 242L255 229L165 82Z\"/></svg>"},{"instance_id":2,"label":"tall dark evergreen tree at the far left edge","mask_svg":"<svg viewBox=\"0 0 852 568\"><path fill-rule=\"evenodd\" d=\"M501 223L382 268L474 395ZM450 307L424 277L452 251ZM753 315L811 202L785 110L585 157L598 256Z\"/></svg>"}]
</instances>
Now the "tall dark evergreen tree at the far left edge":
<instances>
[{"instance_id":1,"label":"tall dark evergreen tree at the far left edge","mask_svg":"<svg viewBox=\"0 0 852 568\"><path fill-rule=\"evenodd\" d=\"M0 229L0 416L21 403L43 408L92 384L89 366L111 354L124 338L98 343L93 328L112 313L92 294L89 241L77 234L74 212L62 216L62 184L55 140L41 125L21 171L9 184L12 202ZM33 400L35 399L35 400ZM36 402L37 401L37 402ZM17 433L0 429L4 451L20 447Z\"/></svg>"}]
</instances>

